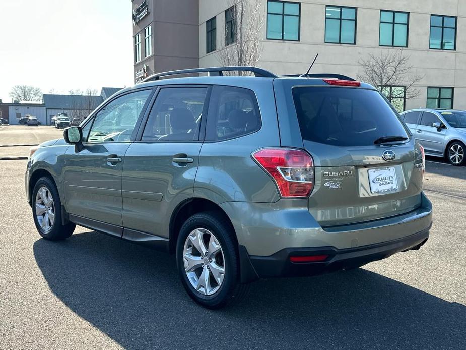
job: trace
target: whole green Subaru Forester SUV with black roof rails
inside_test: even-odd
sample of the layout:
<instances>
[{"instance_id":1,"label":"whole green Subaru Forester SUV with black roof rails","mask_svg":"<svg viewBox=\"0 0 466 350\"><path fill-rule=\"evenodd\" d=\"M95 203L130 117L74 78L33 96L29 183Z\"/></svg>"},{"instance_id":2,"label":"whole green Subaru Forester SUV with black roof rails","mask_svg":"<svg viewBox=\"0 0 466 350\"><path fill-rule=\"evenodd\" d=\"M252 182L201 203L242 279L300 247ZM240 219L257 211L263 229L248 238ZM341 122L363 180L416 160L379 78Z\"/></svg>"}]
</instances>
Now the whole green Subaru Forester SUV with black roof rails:
<instances>
[{"instance_id":1,"label":"whole green Subaru Forester SUV with black roof rails","mask_svg":"<svg viewBox=\"0 0 466 350\"><path fill-rule=\"evenodd\" d=\"M30 153L26 195L44 239L78 224L175 254L208 308L260 277L417 250L432 225L423 148L380 92L337 74L159 73Z\"/></svg>"}]
</instances>

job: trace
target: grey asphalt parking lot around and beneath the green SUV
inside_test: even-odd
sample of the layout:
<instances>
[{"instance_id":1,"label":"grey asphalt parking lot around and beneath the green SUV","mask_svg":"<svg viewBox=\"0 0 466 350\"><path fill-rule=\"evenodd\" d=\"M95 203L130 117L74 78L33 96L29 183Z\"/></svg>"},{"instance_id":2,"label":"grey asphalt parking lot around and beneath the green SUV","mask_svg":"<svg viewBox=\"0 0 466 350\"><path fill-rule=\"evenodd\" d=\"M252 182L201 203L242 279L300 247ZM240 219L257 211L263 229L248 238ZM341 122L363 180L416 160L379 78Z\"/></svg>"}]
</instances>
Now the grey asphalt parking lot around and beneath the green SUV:
<instances>
[{"instance_id":1,"label":"grey asphalt parking lot around and beneath the green SUV","mask_svg":"<svg viewBox=\"0 0 466 350\"><path fill-rule=\"evenodd\" d=\"M2 127L0 144L12 128L27 127ZM25 167L0 161L0 349L464 348L466 168L427 162L435 214L421 250L260 280L241 303L210 311L186 295L172 256L81 227L63 242L41 239Z\"/></svg>"}]
</instances>

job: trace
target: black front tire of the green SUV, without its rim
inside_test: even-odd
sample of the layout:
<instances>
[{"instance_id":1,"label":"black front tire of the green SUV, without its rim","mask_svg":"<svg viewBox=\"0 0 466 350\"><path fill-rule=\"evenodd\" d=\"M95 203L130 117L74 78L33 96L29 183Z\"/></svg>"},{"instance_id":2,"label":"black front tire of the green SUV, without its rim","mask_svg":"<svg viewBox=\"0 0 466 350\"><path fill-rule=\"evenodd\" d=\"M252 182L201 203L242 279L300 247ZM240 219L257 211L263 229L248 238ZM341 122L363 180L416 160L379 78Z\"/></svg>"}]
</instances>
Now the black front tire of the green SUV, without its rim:
<instances>
[{"instance_id":1,"label":"black front tire of the green SUV, without its rim","mask_svg":"<svg viewBox=\"0 0 466 350\"><path fill-rule=\"evenodd\" d=\"M41 224L39 223L39 219L36 215L36 196L39 189L45 187L52 199L53 199L53 210L55 214L55 218L53 220L53 224L51 225L49 230L45 230ZM55 184L52 180L47 177L40 178L36 184L34 185L34 189L32 191L31 196L31 203L32 203L32 216L34 218L34 224L36 225L37 231L39 235L45 238L46 240L50 241L59 241L64 240L71 235L73 235L73 231L75 230L76 224L73 222L68 222L65 225L61 222L61 201L60 196L58 195L58 190L56 189Z\"/></svg>"}]
</instances>

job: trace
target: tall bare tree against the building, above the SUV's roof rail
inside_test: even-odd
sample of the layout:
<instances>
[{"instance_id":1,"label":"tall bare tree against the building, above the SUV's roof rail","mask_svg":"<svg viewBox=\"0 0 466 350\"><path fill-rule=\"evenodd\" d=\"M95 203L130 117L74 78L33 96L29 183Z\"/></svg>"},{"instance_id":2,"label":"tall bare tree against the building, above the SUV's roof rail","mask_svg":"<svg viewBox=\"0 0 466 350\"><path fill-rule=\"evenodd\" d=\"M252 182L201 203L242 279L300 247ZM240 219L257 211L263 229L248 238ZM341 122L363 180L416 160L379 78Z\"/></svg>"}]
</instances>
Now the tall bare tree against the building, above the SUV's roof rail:
<instances>
[{"instance_id":1,"label":"tall bare tree against the building, above the SUV's roof rail","mask_svg":"<svg viewBox=\"0 0 466 350\"><path fill-rule=\"evenodd\" d=\"M263 26L259 0L228 0L233 10L218 51L218 60L223 66L255 66L261 54L260 30ZM239 72L246 75L247 72Z\"/></svg>"}]
</instances>

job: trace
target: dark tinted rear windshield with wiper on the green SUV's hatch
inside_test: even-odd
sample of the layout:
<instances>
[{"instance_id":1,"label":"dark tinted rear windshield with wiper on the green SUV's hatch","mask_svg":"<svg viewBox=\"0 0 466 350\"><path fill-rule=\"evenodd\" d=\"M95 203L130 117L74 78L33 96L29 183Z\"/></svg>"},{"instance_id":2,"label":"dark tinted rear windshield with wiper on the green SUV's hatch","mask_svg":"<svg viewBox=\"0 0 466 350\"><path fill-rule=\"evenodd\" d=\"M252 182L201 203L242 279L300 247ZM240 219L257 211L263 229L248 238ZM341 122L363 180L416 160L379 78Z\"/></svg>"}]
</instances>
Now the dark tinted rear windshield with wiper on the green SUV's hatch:
<instances>
[{"instance_id":1,"label":"dark tinted rear windshield with wiper on the green SUV's hatch","mask_svg":"<svg viewBox=\"0 0 466 350\"><path fill-rule=\"evenodd\" d=\"M297 87L293 99L304 140L366 146L384 136L409 138L378 91L346 87Z\"/></svg>"}]
</instances>

